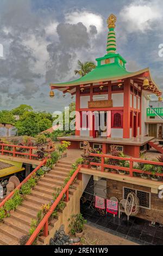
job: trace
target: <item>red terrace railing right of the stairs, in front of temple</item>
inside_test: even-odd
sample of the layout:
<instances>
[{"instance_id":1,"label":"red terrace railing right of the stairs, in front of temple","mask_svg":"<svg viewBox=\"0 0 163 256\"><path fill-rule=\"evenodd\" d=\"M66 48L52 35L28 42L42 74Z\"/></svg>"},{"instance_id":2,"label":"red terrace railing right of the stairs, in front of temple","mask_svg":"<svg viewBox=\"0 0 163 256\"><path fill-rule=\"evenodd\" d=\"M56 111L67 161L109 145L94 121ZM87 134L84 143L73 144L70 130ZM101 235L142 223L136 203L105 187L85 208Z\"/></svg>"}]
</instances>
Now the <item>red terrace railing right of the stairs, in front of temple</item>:
<instances>
[{"instance_id":1,"label":"red terrace railing right of the stairs, in front of temple","mask_svg":"<svg viewBox=\"0 0 163 256\"><path fill-rule=\"evenodd\" d=\"M142 160L142 159L134 159L132 157L128 158L128 157L111 156L111 155L104 155L104 154L93 154L93 153L91 153L90 155L101 158L101 162L99 162L99 163L91 162L90 164L92 166L101 166L101 171L102 172L104 172L104 168L125 170L126 172L129 173L129 175L131 177L133 177L133 173L143 173L143 174L152 175L152 172L147 172L145 170L135 169L134 168L134 163L145 163L145 164L152 164L152 165L157 165L157 166L162 166L163 167L163 162L155 162L155 161L148 161L148 160ZM123 167L123 166L120 166L120 165L116 166L116 165L106 164L106 163L104 163L105 158L128 161L129 162L129 167ZM162 177L163 173L155 173L154 175Z\"/></svg>"}]
</instances>

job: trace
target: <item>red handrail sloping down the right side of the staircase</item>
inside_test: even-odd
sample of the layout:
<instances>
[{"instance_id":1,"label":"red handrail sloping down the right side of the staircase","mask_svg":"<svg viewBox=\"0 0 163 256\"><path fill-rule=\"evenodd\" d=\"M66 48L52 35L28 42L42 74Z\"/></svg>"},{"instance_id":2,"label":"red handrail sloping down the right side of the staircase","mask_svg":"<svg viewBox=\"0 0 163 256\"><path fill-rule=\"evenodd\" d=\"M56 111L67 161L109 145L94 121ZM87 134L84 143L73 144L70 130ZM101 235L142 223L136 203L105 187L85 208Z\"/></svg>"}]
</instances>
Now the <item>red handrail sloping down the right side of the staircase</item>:
<instances>
[{"instance_id":1,"label":"red handrail sloping down the right side of the staircase","mask_svg":"<svg viewBox=\"0 0 163 256\"><path fill-rule=\"evenodd\" d=\"M47 214L43 217L43 219L41 220L41 222L39 223L39 225L35 229L35 231L32 234L32 236L30 236L30 238L27 241L26 245L32 245L32 243L36 239L37 235L39 235L40 230L42 228L43 228L43 236L45 236L45 237L48 236L48 219L52 215L53 211L55 210L55 208L59 204L59 202L62 199L62 197L64 196L64 194L66 194L66 198L65 199L66 199L66 202L68 202L68 189L69 189L70 185L72 184L72 182L74 181L74 179L76 178L77 174L79 173L81 167L82 167L82 164L80 164L78 166L78 168L76 169L76 171L73 173L73 175L71 176L70 180L67 182L65 187L62 189L61 193L59 194L59 196L57 197L55 202L52 204L52 206L49 209L49 211L47 212ZM82 176L79 176L78 179L82 180Z\"/></svg>"}]
</instances>

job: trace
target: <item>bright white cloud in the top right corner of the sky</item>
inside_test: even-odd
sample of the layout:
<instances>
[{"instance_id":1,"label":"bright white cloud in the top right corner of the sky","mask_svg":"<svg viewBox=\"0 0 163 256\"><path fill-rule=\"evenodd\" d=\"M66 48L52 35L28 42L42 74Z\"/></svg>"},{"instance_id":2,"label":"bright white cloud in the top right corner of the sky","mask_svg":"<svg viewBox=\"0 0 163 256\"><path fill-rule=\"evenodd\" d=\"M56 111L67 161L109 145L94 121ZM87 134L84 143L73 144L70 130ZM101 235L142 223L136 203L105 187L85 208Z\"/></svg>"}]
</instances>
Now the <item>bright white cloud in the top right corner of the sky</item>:
<instances>
[{"instance_id":1,"label":"bright white cloud in the top right corner of the sky","mask_svg":"<svg viewBox=\"0 0 163 256\"><path fill-rule=\"evenodd\" d=\"M120 13L122 21L126 22L129 32L146 32L152 29L152 23L159 21L162 17L161 10L151 4L131 4L124 7Z\"/></svg>"}]
</instances>

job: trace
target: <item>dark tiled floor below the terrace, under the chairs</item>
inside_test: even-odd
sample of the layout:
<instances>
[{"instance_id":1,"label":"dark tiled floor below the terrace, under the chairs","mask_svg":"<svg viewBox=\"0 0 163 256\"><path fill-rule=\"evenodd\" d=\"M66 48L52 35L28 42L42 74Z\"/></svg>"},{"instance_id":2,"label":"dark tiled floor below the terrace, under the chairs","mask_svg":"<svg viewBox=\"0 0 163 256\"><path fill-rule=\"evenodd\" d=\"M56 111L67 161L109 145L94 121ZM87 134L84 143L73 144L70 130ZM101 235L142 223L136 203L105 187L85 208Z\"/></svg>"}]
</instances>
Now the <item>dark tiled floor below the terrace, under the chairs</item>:
<instances>
[{"instance_id":1,"label":"dark tiled floor below the terrace, under the chairs","mask_svg":"<svg viewBox=\"0 0 163 256\"><path fill-rule=\"evenodd\" d=\"M127 221L124 214L121 218L113 217L111 214L101 217L98 211L90 209L87 203L80 204L80 211L87 220L87 224L93 227L140 245L163 245L163 228L160 228L157 223L155 227L150 227L149 221L136 217L130 217Z\"/></svg>"}]
</instances>

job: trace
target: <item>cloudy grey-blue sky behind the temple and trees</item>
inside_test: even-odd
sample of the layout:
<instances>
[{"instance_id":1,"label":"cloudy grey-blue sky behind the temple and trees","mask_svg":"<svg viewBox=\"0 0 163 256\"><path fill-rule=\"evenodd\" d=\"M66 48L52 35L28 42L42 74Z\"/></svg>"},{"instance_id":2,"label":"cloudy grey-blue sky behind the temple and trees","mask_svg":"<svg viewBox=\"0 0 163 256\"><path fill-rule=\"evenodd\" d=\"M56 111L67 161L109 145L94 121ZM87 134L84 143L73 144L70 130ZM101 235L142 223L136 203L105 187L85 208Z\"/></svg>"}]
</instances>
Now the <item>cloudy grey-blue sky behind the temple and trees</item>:
<instances>
[{"instance_id":1,"label":"cloudy grey-blue sky behind the temple and trees","mask_svg":"<svg viewBox=\"0 0 163 256\"><path fill-rule=\"evenodd\" d=\"M71 97L49 83L77 78L77 61L95 61L106 53L111 13L117 16L117 52L127 59L127 69L151 68L163 89L162 0L1 0L0 109L22 103L36 110L62 110Z\"/></svg>"}]
</instances>

